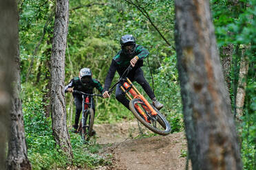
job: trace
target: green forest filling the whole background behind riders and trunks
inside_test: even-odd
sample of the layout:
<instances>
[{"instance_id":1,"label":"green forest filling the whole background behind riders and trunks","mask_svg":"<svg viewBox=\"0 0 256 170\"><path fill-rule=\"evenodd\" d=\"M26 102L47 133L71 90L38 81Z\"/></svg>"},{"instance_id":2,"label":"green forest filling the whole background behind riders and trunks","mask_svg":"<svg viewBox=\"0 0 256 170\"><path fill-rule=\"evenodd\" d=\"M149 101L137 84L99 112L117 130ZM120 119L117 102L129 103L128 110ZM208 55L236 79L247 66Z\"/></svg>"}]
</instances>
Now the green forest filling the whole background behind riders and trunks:
<instances>
[{"instance_id":1,"label":"green forest filling the whole background behind riders and trunks","mask_svg":"<svg viewBox=\"0 0 256 170\"><path fill-rule=\"evenodd\" d=\"M133 34L139 45L149 49L150 56L143 66L145 77L165 105L162 112L173 132L180 132L184 127L176 68L173 1L133 2L70 1L65 83L78 76L81 68L89 67L93 77L104 84L111 59L120 50L120 36ZM256 4L253 0L212 0L211 10L234 119L237 120L244 169L255 169ZM54 1L19 1L21 99L28 157L34 169L65 168L68 165L68 160L55 147L51 130L49 81L54 12ZM248 69L243 77L239 73L244 65ZM115 80L117 78L116 74ZM244 89L242 107L237 106L239 88ZM66 103L67 125L71 127L75 111L72 95L66 94ZM242 114L237 114L241 110ZM111 99L96 98L95 123L132 119L134 117L114 95ZM85 153L78 136L71 134L71 142L74 163L78 167L107 163L96 154L99 145L88 147L89 152Z\"/></svg>"}]
</instances>

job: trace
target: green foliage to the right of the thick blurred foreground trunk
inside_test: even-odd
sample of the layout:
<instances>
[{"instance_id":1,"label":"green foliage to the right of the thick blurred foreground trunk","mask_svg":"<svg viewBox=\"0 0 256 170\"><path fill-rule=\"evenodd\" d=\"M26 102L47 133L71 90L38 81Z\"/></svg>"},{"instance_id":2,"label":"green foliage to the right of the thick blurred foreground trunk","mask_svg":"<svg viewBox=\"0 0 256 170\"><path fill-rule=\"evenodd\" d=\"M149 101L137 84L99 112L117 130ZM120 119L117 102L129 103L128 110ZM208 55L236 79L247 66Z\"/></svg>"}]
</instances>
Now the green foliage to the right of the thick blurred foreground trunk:
<instances>
[{"instance_id":1,"label":"green foliage to the right of the thick blurred foreground trunk","mask_svg":"<svg viewBox=\"0 0 256 170\"><path fill-rule=\"evenodd\" d=\"M249 69L246 77L246 99L244 102L244 117L242 123L237 123L237 129L242 146L242 160L244 169L255 169L256 165L256 117L255 117L255 53L256 33L255 14L256 1L211 1L215 34L219 47L232 44L235 47L231 69L231 99L235 112L235 97L239 78L239 62L247 56ZM242 56L242 50L246 49ZM224 57L224 56L223 56Z\"/></svg>"}]
</instances>

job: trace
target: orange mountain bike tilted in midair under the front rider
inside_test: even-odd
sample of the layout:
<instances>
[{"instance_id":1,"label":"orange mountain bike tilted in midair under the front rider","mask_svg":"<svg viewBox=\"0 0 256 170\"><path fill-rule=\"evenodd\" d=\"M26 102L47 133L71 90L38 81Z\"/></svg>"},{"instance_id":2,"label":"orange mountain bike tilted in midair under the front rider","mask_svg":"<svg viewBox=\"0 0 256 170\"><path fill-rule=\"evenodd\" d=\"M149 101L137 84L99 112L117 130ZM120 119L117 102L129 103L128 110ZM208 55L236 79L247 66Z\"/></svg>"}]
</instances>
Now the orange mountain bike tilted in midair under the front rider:
<instances>
[{"instance_id":1,"label":"orange mountain bike tilted in midair under the front rider","mask_svg":"<svg viewBox=\"0 0 256 170\"><path fill-rule=\"evenodd\" d=\"M120 88L129 99L129 108L136 119L138 119L138 121L145 125L145 127L156 134L169 134L171 132L171 126L167 119L165 119L161 112L152 104L149 104L149 101L147 101L147 99L141 95L134 84L132 84L131 80L129 80L127 77L132 68L133 67L131 65L128 66L128 68L119 78L118 82L116 82L116 84L110 88L109 94L114 91L114 87L117 84L122 82L122 86L120 86Z\"/></svg>"}]
</instances>

